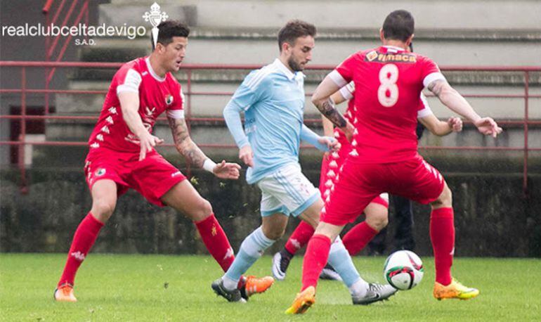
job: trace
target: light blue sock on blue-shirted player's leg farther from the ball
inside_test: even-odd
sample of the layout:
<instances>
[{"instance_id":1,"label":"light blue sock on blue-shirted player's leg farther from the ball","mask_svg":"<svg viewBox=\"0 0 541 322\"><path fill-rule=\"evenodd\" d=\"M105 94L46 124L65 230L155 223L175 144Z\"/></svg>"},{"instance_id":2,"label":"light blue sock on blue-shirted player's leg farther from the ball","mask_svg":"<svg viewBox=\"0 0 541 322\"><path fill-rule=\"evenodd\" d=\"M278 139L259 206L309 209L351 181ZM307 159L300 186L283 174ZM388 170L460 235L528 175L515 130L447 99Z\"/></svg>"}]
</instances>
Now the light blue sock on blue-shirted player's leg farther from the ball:
<instances>
[{"instance_id":1,"label":"light blue sock on blue-shirted player's leg farther from the ball","mask_svg":"<svg viewBox=\"0 0 541 322\"><path fill-rule=\"evenodd\" d=\"M223 286L228 290L234 290L237 288L237 283L240 280L240 276L252 266L263 252L273 245L275 240L268 239L263 234L261 226L242 241L240 250L233 261L233 264L229 267L226 274L223 276Z\"/></svg>"}]
</instances>

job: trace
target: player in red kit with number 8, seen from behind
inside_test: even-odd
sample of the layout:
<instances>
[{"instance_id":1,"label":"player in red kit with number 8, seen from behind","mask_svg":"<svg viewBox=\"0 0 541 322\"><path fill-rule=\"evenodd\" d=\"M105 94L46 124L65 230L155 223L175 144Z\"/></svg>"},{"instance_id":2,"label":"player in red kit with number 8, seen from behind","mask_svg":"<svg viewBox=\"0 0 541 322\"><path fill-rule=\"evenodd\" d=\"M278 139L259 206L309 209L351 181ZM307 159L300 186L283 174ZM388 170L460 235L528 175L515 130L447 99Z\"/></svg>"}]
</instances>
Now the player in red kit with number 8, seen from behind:
<instances>
[{"instance_id":1,"label":"player in red kit with number 8, seen from behind","mask_svg":"<svg viewBox=\"0 0 541 322\"><path fill-rule=\"evenodd\" d=\"M485 135L502 129L490 117L480 117L448 84L431 59L406 49L412 41L414 20L408 11L390 13L380 30L383 46L353 53L327 75L312 102L341 128L355 148L339 172L330 200L308 243L301 292L287 313L304 313L315 302L318 276L327 264L330 244L348 222L379 193L389 192L420 203L430 203L430 237L434 250L438 300L467 300L479 293L451 276L455 226L451 191L443 176L417 153L417 106L424 87L453 112L470 120ZM355 127L334 108L330 96L355 83Z\"/></svg>"}]
</instances>

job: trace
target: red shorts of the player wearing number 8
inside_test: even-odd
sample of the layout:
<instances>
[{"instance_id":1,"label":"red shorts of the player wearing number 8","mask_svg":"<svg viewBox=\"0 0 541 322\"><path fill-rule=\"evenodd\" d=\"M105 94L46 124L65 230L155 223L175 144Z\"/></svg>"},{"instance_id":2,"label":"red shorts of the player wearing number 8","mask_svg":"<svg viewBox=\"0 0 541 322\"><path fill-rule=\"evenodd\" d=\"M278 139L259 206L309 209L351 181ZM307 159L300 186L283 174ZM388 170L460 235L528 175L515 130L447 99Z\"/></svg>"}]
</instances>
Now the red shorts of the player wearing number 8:
<instances>
[{"instance_id":1,"label":"red shorts of the player wearing number 8","mask_svg":"<svg viewBox=\"0 0 541 322\"><path fill-rule=\"evenodd\" d=\"M344 226L355 221L382 192L427 204L436 200L445 186L443 176L420 155L396 163L357 163L347 160L325 202L321 221Z\"/></svg>"}]
</instances>

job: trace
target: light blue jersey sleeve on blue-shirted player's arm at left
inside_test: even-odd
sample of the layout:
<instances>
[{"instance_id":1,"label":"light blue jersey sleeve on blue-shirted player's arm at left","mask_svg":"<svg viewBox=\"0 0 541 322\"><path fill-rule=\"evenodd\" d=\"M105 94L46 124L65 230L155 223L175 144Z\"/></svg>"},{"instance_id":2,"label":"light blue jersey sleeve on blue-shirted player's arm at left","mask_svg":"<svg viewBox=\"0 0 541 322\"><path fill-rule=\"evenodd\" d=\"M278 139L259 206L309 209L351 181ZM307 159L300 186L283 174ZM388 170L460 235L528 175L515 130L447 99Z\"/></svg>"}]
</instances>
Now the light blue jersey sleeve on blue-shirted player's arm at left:
<instances>
[{"instance_id":1,"label":"light blue jersey sleeve on blue-shirted player's arm at left","mask_svg":"<svg viewBox=\"0 0 541 322\"><path fill-rule=\"evenodd\" d=\"M268 96L271 78L261 69L251 72L233 94L228 105L235 105L240 110L248 110L252 105Z\"/></svg>"}]
</instances>

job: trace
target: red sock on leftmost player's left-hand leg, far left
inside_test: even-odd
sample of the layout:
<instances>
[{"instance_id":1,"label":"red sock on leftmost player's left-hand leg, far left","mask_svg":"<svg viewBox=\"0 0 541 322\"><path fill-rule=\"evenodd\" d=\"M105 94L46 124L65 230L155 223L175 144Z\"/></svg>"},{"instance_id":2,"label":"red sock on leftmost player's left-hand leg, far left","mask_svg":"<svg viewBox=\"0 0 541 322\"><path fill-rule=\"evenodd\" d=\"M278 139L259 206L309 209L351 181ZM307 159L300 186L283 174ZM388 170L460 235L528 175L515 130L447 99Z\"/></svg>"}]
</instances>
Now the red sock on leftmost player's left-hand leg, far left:
<instances>
[{"instance_id":1,"label":"red sock on leftmost player's left-hand leg, far left","mask_svg":"<svg viewBox=\"0 0 541 322\"><path fill-rule=\"evenodd\" d=\"M81 221L73 236L72 247L70 247L70 252L67 253L66 265L58 286L64 283L74 285L77 269L81 266L92 245L94 245L102 227L103 223L94 218L90 212Z\"/></svg>"}]
</instances>

